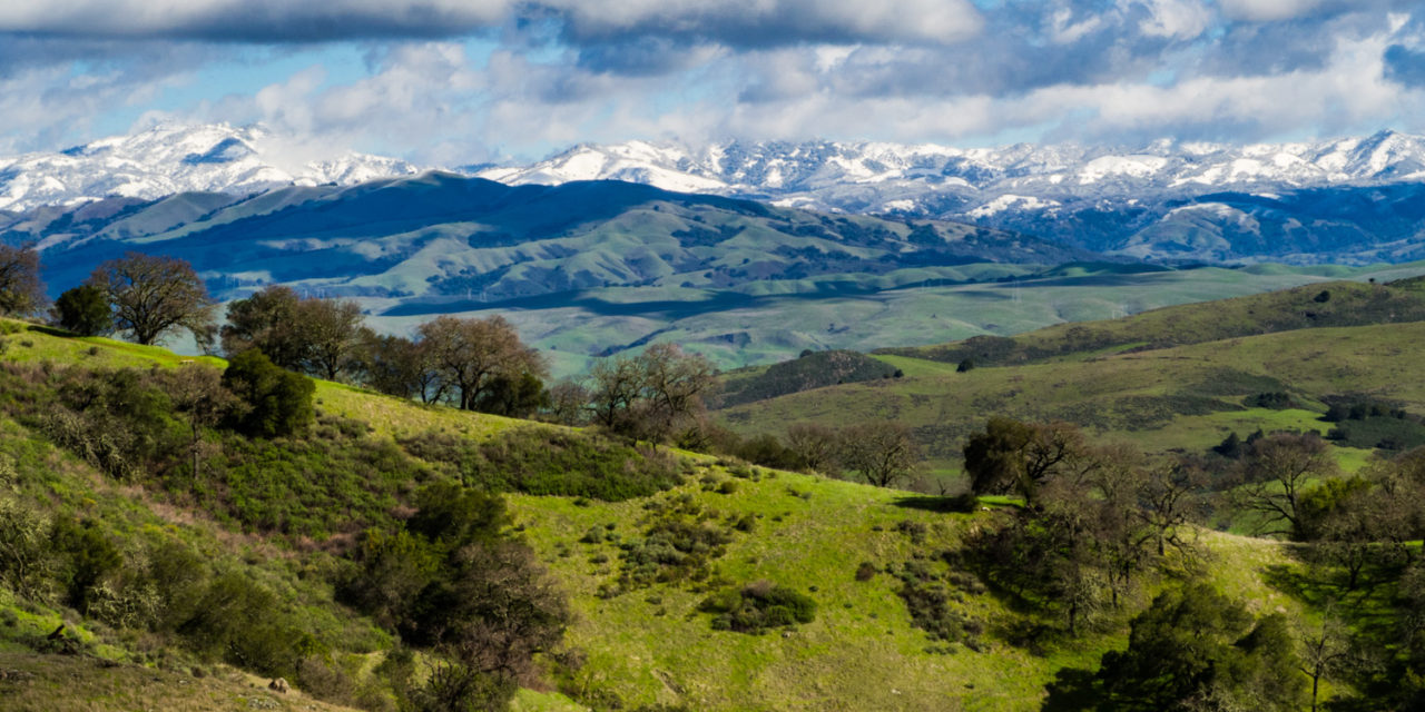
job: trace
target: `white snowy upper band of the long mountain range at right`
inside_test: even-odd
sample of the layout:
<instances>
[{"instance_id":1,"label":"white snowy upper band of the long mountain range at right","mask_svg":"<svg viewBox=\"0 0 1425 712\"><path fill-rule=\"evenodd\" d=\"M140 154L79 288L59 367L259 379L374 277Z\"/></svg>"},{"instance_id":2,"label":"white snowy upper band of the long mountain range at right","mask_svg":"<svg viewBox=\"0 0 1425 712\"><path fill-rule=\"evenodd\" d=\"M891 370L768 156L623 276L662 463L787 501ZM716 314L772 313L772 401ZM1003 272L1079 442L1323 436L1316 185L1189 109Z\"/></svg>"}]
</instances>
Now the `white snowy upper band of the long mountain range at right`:
<instances>
[{"instance_id":1,"label":"white snowy upper band of the long mountain range at right","mask_svg":"<svg viewBox=\"0 0 1425 712\"><path fill-rule=\"evenodd\" d=\"M1133 151L1073 144L962 150L836 141L734 141L691 148L634 141L579 145L529 167L477 175L514 185L633 179L673 191L801 198L795 202L842 209L856 209L858 202L935 205L921 197L952 192L969 202L953 212L969 214L982 206L995 212L992 204L1005 195L1062 201L1375 185L1415 181L1422 172L1425 138L1382 131L1367 138L1243 147L1164 140ZM875 199L856 187L874 189Z\"/></svg>"}]
</instances>

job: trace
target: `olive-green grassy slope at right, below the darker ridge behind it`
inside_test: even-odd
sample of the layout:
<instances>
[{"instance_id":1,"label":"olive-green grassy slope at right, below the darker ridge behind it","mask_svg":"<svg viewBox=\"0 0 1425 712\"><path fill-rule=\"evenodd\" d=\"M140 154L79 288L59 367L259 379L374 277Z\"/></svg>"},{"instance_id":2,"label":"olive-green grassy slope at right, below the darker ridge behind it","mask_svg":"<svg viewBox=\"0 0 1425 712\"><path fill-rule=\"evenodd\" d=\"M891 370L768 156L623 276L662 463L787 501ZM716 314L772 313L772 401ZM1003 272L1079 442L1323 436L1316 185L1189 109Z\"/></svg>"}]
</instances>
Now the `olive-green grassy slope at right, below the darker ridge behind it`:
<instances>
[{"instance_id":1,"label":"olive-green grassy slope at right, below the darker ridge behind it","mask_svg":"<svg viewBox=\"0 0 1425 712\"><path fill-rule=\"evenodd\" d=\"M1243 409L1245 396L1291 390L1311 397L1369 393L1425 410L1425 322L1310 329L1173 349L953 373L939 363L892 360L908 377L835 386L751 403L721 413L742 433L898 419L939 459L990 414L1063 419L1150 450L1201 450L1228 431L1312 429L1325 409ZM1359 460L1352 454L1352 461Z\"/></svg>"}]
</instances>

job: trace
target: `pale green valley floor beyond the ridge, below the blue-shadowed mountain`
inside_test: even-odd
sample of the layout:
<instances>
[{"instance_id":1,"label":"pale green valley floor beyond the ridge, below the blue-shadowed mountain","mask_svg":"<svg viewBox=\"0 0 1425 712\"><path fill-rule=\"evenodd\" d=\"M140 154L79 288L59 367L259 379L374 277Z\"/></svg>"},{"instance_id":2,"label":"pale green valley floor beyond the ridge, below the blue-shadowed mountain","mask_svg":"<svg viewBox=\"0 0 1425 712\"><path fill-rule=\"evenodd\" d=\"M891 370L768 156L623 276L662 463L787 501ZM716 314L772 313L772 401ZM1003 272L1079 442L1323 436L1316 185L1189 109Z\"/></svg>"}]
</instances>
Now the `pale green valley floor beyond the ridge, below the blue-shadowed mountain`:
<instances>
[{"instance_id":1,"label":"pale green valley floor beyond the ridge, below the blue-shadowed mountain","mask_svg":"<svg viewBox=\"0 0 1425 712\"><path fill-rule=\"evenodd\" d=\"M1009 273L1026 271L1017 265L993 268ZM732 303L727 295L703 288L610 288L590 292L590 299L580 305L530 305L460 316L500 313L509 318L526 340L550 356L557 376L586 370L594 352L646 337L680 343L731 369L791 359L802 349L871 350L980 335L1007 336L1063 322L1112 319L1331 279L1414 276L1425 272L1425 263L1345 273L1320 268L1201 268L1131 275L1076 271L1042 279L1026 276L1019 282L983 281L1000 276L992 273L978 275L976 283L943 286L946 279L960 276L949 271L963 269L968 268L757 282L741 289L752 293L752 286L760 285L758 289L770 293L758 293L760 299L751 303ZM865 292L818 293L828 282L858 285ZM379 310L375 300L372 306ZM378 316L372 323L405 333L423 319Z\"/></svg>"}]
</instances>

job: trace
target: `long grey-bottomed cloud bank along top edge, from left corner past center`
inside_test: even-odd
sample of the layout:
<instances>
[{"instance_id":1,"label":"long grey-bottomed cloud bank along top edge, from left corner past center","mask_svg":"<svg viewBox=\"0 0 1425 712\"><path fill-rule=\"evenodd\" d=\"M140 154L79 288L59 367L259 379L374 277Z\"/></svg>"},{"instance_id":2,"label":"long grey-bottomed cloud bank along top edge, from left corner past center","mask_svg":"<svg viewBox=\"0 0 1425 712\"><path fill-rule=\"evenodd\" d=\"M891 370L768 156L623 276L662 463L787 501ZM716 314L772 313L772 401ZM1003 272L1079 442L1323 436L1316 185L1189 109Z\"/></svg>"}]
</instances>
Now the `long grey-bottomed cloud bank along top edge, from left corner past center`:
<instances>
[{"instance_id":1,"label":"long grey-bottomed cloud bank along top edge, from left corner past center","mask_svg":"<svg viewBox=\"0 0 1425 712\"><path fill-rule=\"evenodd\" d=\"M50 0L0 6L0 31L54 37L306 43L449 38L551 21L574 44L627 37L779 46L948 43L973 36L968 0Z\"/></svg>"}]
</instances>

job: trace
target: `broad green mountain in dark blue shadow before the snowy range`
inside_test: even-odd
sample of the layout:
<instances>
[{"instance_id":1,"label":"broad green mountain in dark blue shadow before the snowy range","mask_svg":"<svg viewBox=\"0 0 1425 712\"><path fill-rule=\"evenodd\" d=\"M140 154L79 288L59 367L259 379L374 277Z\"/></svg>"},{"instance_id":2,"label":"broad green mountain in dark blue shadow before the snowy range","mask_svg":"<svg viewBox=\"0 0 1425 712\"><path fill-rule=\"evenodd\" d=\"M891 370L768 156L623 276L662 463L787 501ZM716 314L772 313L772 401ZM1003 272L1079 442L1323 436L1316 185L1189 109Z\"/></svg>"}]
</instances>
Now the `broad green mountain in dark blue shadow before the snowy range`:
<instances>
[{"instance_id":1,"label":"broad green mountain in dark blue shadow before the snowy range","mask_svg":"<svg viewBox=\"0 0 1425 712\"><path fill-rule=\"evenodd\" d=\"M510 187L437 171L252 197L38 208L0 216L0 239L37 244L51 290L140 249L188 259L221 296L289 283L399 302L408 313L617 286L958 281L972 263L1093 256L956 222L825 215L618 181Z\"/></svg>"}]
</instances>

